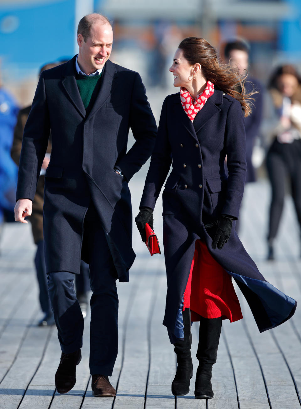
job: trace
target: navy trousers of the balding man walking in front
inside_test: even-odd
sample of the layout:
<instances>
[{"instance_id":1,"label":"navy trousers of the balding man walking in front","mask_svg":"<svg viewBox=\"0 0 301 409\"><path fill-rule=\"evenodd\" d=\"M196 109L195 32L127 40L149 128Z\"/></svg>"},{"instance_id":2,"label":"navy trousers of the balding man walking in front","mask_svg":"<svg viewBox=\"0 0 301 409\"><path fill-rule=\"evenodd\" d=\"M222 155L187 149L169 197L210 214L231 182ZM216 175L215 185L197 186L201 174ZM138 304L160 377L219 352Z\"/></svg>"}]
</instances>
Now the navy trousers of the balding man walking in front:
<instances>
[{"instance_id":1,"label":"navy trousers of the balding man walking in front","mask_svg":"<svg viewBox=\"0 0 301 409\"><path fill-rule=\"evenodd\" d=\"M83 246L90 266L92 297L90 373L112 375L118 351L118 278L101 222L91 204L84 221ZM64 353L83 345L83 315L74 290L73 273L48 274L49 297Z\"/></svg>"}]
</instances>

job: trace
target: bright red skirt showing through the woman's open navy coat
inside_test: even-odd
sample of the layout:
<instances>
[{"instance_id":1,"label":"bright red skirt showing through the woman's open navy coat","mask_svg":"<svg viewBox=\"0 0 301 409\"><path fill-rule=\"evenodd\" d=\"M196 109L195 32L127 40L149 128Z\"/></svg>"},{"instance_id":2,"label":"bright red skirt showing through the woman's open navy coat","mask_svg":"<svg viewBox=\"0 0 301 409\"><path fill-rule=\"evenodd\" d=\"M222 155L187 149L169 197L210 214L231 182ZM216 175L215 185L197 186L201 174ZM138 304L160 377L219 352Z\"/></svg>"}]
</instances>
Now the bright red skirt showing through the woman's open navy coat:
<instances>
[{"instance_id":1,"label":"bright red skirt showing through the woman's open navy coat","mask_svg":"<svg viewBox=\"0 0 301 409\"><path fill-rule=\"evenodd\" d=\"M243 318L232 277L209 253L201 240L195 242L195 252L184 292L184 306L191 310L191 321L204 318L228 318L231 322Z\"/></svg>"}]
</instances>

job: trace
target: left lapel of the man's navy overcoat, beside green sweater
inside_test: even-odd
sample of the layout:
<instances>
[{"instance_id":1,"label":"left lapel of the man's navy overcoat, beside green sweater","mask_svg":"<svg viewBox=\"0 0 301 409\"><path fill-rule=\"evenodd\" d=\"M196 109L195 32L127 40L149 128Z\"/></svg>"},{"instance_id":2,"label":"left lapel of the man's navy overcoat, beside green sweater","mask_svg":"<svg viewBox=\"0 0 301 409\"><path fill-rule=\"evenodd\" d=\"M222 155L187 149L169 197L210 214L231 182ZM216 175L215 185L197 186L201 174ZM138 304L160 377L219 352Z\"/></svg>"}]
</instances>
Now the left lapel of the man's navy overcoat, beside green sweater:
<instances>
[{"instance_id":1,"label":"left lapel of the man's navy overcoat, beside green sweater","mask_svg":"<svg viewBox=\"0 0 301 409\"><path fill-rule=\"evenodd\" d=\"M63 88L65 88L67 94L69 95L75 108L79 111L82 117L85 118L86 110L83 105L83 100L81 99L81 94L79 93L79 88L76 83L74 68L75 58L76 56L66 63L65 70L63 72L63 76L65 78L62 80L62 85Z\"/></svg>"}]
</instances>

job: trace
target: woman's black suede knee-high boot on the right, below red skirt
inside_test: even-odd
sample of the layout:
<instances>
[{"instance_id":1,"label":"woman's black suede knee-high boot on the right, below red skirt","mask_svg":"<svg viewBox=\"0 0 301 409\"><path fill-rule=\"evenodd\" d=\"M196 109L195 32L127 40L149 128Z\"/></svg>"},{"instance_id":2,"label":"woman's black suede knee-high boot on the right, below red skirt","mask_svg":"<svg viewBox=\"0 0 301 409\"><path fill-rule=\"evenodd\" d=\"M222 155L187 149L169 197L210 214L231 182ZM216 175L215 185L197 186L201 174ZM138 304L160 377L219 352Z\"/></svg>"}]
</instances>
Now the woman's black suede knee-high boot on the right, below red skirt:
<instances>
[{"instance_id":1,"label":"woman's black suede knee-high boot on the right, below red skirt","mask_svg":"<svg viewBox=\"0 0 301 409\"><path fill-rule=\"evenodd\" d=\"M199 366L195 378L195 398L213 398L211 385L212 365L216 363L220 331L222 329L222 317L203 318L200 320L200 339L196 357Z\"/></svg>"}]
</instances>

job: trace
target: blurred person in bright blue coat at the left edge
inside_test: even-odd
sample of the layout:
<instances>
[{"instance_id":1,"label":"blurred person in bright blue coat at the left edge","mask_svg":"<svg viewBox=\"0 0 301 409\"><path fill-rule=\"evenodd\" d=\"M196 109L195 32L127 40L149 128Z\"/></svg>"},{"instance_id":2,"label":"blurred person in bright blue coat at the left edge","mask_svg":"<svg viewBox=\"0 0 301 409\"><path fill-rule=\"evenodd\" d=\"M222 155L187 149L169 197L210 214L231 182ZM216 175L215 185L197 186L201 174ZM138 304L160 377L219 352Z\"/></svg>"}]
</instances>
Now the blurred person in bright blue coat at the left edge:
<instances>
[{"instance_id":1,"label":"blurred person in bright blue coat at the left edge","mask_svg":"<svg viewBox=\"0 0 301 409\"><path fill-rule=\"evenodd\" d=\"M11 159L10 151L18 111L15 99L3 88L0 80L0 233L4 220L14 220L18 168Z\"/></svg>"}]
</instances>

